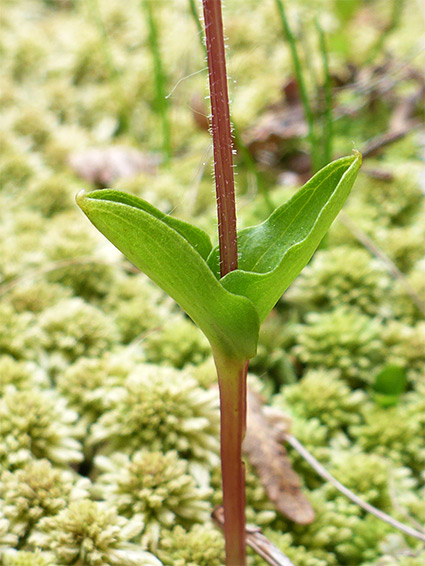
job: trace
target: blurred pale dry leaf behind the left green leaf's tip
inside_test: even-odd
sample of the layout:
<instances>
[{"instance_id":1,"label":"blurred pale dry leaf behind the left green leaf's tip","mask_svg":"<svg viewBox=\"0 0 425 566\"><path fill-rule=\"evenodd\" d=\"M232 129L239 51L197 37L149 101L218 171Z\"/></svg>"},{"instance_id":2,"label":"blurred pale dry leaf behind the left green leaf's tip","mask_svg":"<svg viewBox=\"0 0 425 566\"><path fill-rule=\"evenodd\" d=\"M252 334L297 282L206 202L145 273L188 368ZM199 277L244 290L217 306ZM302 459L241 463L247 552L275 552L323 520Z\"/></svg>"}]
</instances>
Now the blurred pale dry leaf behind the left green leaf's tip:
<instances>
[{"instance_id":1,"label":"blurred pale dry leaf behind the left green leaf's tip","mask_svg":"<svg viewBox=\"0 0 425 566\"><path fill-rule=\"evenodd\" d=\"M75 173L99 186L138 173L154 174L160 163L157 155L122 146L91 148L71 154L69 163Z\"/></svg>"}]
</instances>

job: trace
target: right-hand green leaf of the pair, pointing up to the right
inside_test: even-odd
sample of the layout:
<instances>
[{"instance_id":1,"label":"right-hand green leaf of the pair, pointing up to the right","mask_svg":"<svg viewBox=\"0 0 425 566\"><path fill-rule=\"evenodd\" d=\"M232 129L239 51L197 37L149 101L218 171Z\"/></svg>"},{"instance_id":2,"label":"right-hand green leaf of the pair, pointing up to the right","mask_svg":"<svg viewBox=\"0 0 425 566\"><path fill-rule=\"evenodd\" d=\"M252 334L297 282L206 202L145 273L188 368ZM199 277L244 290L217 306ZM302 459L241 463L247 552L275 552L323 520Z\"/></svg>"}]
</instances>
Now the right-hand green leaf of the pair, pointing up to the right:
<instances>
[{"instance_id":1,"label":"right-hand green leaf of the pair, pointing up to the right","mask_svg":"<svg viewBox=\"0 0 425 566\"><path fill-rule=\"evenodd\" d=\"M360 165L358 152L330 163L265 222L239 232L239 269L221 283L249 298L260 322L309 262L344 205ZM209 261L213 257L214 250Z\"/></svg>"}]
</instances>

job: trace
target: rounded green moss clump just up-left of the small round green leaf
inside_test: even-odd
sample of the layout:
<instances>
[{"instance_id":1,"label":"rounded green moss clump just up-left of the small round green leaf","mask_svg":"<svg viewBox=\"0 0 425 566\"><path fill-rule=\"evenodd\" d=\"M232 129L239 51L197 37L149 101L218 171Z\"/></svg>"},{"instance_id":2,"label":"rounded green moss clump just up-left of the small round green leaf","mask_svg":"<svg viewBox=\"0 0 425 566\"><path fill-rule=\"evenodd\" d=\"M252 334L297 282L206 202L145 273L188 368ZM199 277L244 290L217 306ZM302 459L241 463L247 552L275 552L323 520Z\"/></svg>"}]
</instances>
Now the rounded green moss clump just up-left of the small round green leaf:
<instances>
[{"instance_id":1,"label":"rounded green moss clump just up-left of the small round green leaf","mask_svg":"<svg viewBox=\"0 0 425 566\"><path fill-rule=\"evenodd\" d=\"M311 313L299 325L292 352L309 368L338 370L350 385L371 383L384 362L383 328L355 309Z\"/></svg>"}]
</instances>

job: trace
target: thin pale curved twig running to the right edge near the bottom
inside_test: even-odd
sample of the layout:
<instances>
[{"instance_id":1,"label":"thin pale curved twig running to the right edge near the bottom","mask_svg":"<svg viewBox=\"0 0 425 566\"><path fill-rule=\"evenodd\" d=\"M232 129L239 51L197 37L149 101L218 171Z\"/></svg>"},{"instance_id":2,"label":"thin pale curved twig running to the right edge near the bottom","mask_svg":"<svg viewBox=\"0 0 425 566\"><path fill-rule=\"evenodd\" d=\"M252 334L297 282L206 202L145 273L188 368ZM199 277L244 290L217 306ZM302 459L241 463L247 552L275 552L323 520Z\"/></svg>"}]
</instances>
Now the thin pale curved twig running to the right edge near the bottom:
<instances>
[{"instance_id":1,"label":"thin pale curved twig running to the right edge near the bottom","mask_svg":"<svg viewBox=\"0 0 425 566\"><path fill-rule=\"evenodd\" d=\"M385 521L385 523L388 523L395 529L398 529L399 531L405 533L406 535L409 535L411 537L414 537L416 539L425 542L424 533L421 533L417 529L413 529L412 527L409 527L404 523L400 523L400 521L397 521L397 519L390 517L390 515L387 515L387 513L384 513L383 511L380 511L376 507L373 507L373 505L366 503L366 501L360 499L360 497L358 497L355 493L353 493L351 490L345 487L345 485L343 485L337 479L335 479L326 470L326 468L324 468L322 464L318 462L316 458L314 458L314 456L312 456L312 454L310 454L310 452L306 448L304 448L304 446L294 436L292 436L292 434L283 433L282 438L286 440L286 442L288 442L310 464L310 466L319 474L320 477L331 483L334 487L336 487L336 489L338 489L338 491L340 491L348 499L350 499L350 501L352 501L353 503L355 503L356 505L358 505L368 513L371 513L378 519L381 519L381 521Z\"/></svg>"}]
</instances>

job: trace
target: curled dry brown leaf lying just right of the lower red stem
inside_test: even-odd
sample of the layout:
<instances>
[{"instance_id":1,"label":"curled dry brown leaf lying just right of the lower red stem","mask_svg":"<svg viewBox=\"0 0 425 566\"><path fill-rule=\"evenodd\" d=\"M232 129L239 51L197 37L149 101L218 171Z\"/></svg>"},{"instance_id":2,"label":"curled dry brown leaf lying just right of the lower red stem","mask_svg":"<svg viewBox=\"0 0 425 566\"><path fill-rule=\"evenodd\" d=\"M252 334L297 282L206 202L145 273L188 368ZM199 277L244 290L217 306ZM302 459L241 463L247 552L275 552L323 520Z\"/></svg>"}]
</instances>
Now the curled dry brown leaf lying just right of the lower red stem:
<instances>
[{"instance_id":1,"label":"curled dry brown leaf lying just right of the lower red stem","mask_svg":"<svg viewBox=\"0 0 425 566\"><path fill-rule=\"evenodd\" d=\"M243 450L259 475L270 500L286 517L302 525L314 520L314 511L301 491L301 481L291 467L282 433L289 431L283 414L267 416L260 397L248 390L247 431Z\"/></svg>"}]
</instances>

